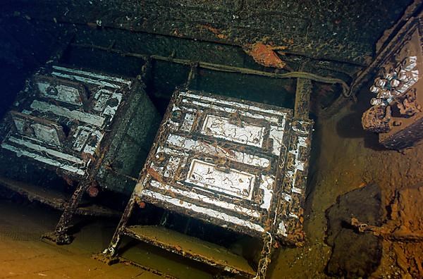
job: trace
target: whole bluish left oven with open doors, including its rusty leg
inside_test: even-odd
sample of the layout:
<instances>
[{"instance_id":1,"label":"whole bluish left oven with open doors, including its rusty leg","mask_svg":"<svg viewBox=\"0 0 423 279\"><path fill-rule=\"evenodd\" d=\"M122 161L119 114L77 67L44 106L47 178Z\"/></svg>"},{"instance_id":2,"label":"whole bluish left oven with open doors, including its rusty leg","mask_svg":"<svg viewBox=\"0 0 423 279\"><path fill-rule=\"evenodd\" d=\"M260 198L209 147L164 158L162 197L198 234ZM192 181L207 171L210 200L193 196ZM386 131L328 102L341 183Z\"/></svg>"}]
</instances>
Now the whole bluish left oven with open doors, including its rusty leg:
<instances>
[{"instance_id":1,"label":"whole bluish left oven with open doors, including its rusty leg","mask_svg":"<svg viewBox=\"0 0 423 279\"><path fill-rule=\"evenodd\" d=\"M46 66L27 80L1 123L1 185L63 210L51 237L69 242L73 213L118 214L82 196L99 189L130 194L141 168L134 166L147 157L160 119L138 80ZM58 175L70 194L51 187Z\"/></svg>"}]
</instances>

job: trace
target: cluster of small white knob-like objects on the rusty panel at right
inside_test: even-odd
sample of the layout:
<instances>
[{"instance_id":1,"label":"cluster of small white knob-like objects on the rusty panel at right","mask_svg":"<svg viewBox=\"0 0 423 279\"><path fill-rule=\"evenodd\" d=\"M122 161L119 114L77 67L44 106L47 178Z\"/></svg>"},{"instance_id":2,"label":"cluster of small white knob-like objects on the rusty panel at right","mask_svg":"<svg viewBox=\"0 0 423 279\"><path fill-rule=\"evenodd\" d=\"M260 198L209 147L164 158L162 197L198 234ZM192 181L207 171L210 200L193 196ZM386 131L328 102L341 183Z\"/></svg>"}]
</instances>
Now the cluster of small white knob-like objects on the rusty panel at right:
<instances>
[{"instance_id":1,"label":"cluster of small white knob-like objects on the rusty panel at right","mask_svg":"<svg viewBox=\"0 0 423 279\"><path fill-rule=\"evenodd\" d=\"M417 80L419 70L417 67L417 56L408 56L395 69L376 77L370 92L377 94L376 98L370 100L372 106L391 104L393 99L407 91Z\"/></svg>"}]
</instances>

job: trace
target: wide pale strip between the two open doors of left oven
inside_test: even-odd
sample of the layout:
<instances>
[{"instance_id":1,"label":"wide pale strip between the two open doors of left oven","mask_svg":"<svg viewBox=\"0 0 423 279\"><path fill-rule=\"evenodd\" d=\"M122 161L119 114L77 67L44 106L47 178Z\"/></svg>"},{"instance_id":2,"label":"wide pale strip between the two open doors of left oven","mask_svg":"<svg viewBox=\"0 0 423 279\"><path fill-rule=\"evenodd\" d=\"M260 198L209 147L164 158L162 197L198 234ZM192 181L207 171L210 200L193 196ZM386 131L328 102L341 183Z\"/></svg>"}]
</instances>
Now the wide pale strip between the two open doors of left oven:
<instances>
[{"instance_id":1,"label":"wide pale strip between the two open doors of left oven","mask_svg":"<svg viewBox=\"0 0 423 279\"><path fill-rule=\"evenodd\" d=\"M31 109L35 109L41 113L54 113L56 116L63 116L70 119L85 122L90 125L101 127L104 124L104 117L96 116L95 114L85 113L82 111L71 111L63 106L56 106L44 101L32 101Z\"/></svg>"}]
</instances>

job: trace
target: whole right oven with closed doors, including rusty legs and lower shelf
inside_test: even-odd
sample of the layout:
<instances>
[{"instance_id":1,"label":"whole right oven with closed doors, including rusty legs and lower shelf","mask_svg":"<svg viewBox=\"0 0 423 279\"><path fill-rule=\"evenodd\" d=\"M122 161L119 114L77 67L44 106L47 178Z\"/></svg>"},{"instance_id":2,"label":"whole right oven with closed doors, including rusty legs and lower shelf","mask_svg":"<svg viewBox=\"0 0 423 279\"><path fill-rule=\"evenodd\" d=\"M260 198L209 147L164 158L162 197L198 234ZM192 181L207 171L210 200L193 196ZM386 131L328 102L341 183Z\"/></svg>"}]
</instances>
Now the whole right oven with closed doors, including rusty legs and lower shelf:
<instances>
[{"instance_id":1,"label":"whole right oven with closed doors, including rusty legs and lower shelf","mask_svg":"<svg viewBox=\"0 0 423 279\"><path fill-rule=\"evenodd\" d=\"M129 236L170 252L264 278L276 240L301 245L312 120L293 110L177 90L121 223L102 256ZM262 240L257 263L161 225L130 224L145 203ZM177 237L170 237L177 235ZM213 256L218 251L219 256Z\"/></svg>"}]
</instances>

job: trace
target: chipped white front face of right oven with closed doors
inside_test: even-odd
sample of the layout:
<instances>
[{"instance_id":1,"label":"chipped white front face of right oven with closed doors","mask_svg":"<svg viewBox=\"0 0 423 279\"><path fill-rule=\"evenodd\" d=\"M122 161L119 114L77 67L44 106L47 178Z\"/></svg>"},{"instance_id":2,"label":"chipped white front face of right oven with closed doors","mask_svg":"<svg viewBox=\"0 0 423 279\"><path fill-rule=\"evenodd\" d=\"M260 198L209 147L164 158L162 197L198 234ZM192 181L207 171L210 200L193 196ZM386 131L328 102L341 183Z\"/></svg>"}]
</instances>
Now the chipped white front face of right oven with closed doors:
<instances>
[{"instance_id":1,"label":"chipped white front face of right oven with closed doors","mask_svg":"<svg viewBox=\"0 0 423 279\"><path fill-rule=\"evenodd\" d=\"M286 156L295 154L294 170L307 171L302 149L309 148L308 134L290 144L290 134L301 132L300 126L291 128L292 115L276 106L178 91L135 192L146 202L224 228L261 236L280 227L286 236L290 223L283 221L301 209L281 212L278 204L297 200L293 185L305 180L294 180L282 192L281 175ZM295 177L290 171L286 175Z\"/></svg>"}]
</instances>

